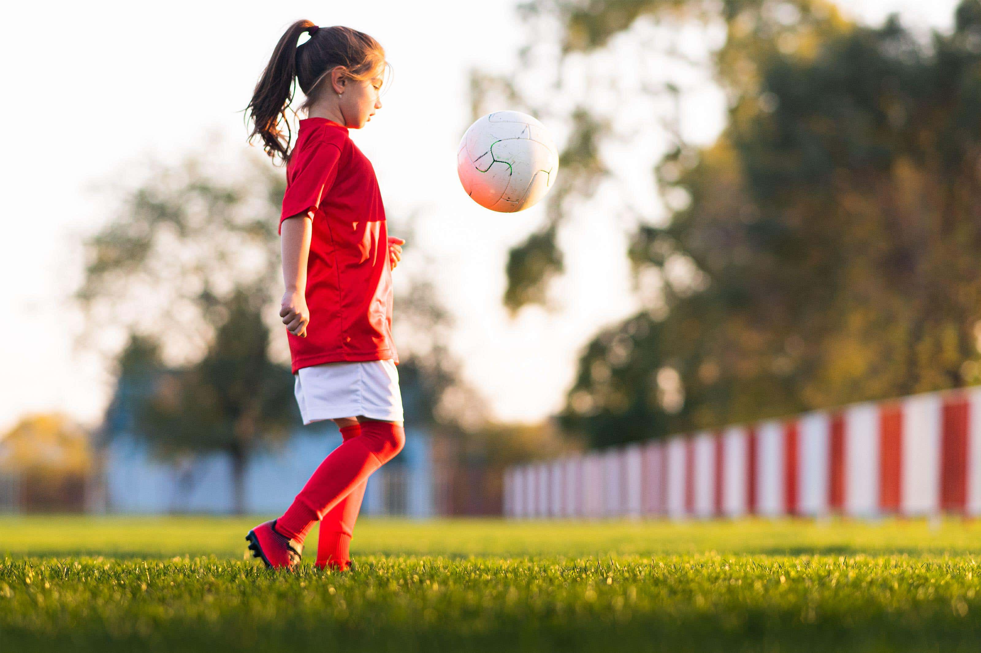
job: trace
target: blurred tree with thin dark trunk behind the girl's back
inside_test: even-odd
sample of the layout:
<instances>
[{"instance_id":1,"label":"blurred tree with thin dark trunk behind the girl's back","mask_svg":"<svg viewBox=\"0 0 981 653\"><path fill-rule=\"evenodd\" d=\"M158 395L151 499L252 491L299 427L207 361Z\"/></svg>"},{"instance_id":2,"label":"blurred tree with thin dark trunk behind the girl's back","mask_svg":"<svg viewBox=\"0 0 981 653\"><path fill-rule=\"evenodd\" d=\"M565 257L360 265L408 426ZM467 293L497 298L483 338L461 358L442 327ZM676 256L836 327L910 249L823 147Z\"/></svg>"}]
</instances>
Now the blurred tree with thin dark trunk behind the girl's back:
<instances>
[{"instance_id":1,"label":"blurred tree with thin dark trunk behind the girl's back","mask_svg":"<svg viewBox=\"0 0 981 653\"><path fill-rule=\"evenodd\" d=\"M276 360L269 338L282 282L268 216L284 183L253 163L222 182L205 162L152 164L119 216L85 242L81 341L128 337L106 430L124 427L165 457L228 453L241 512L249 455L298 422L284 348Z\"/></svg>"}]
</instances>

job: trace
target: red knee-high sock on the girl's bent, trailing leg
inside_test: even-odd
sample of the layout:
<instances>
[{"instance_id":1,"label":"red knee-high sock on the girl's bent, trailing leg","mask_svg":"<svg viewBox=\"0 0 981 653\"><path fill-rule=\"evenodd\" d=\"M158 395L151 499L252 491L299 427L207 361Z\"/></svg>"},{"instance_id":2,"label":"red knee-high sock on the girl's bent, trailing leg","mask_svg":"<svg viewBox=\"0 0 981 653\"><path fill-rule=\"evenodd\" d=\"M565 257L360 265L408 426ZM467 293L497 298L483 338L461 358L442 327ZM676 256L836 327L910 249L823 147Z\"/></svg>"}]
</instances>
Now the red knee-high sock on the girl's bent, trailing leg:
<instances>
[{"instance_id":1,"label":"red knee-high sock on the girl's bent, trailing leg","mask_svg":"<svg viewBox=\"0 0 981 653\"><path fill-rule=\"evenodd\" d=\"M314 522L395 457L404 445L405 431L401 426L375 420L363 422L360 436L340 443L324 459L276 522L276 530L302 542Z\"/></svg>"}]
</instances>

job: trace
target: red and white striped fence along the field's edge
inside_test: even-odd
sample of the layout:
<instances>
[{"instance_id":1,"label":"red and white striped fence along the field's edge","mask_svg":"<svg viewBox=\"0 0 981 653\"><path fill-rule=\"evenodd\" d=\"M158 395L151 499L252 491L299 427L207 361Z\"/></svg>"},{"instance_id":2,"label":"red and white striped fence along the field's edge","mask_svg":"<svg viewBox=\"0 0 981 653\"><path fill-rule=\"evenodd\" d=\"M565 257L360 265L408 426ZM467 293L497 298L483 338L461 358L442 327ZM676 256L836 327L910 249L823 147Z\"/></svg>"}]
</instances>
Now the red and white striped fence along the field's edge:
<instances>
[{"instance_id":1,"label":"red and white striped fence along the field's edge","mask_svg":"<svg viewBox=\"0 0 981 653\"><path fill-rule=\"evenodd\" d=\"M981 387L509 467L513 518L981 514Z\"/></svg>"}]
</instances>

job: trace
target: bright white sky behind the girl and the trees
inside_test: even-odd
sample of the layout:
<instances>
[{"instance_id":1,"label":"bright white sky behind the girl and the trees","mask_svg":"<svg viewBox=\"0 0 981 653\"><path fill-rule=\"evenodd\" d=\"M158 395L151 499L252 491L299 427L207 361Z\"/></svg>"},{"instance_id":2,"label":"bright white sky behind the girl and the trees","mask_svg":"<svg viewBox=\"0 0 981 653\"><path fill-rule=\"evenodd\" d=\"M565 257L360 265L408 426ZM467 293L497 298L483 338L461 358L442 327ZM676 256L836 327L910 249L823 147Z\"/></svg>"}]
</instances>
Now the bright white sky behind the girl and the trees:
<instances>
[{"instance_id":1,"label":"bright white sky behind the girl and the trees","mask_svg":"<svg viewBox=\"0 0 981 653\"><path fill-rule=\"evenodd\" d=\"M387 50L394 84L378 115L350 136L375 166L388 214L420 211L418 242L406 245L405 257L414 245L437 261L468 380L500 419L533 421L556 411L580 349L636 304L622 229L602 219L597 201L563 236L568 273L555 287L562 309L532 307L511 321L500 305L507 250L542 222L543 207L512 214L477 207L459 188L455 153L469 124L467 70L508 70L523 45L515 4L56 2L5 10L0 53L11 92L0 117L11 138L2 174L0 431L42 410L99 421L111 379L73 350L80 317L67 301L79 279L80 235L102 224L109 209L90 188L127 183L131 163L147 155L177 161L211 133L241 144L232 156L244 152L236 112L285 27L300 18L360 29ZM898 11L907 23L947 28L956 2L848 5L871 22ZM709 139L721 106L704 111L710 116L698 136Z\"/></svg>"}]
</instances>

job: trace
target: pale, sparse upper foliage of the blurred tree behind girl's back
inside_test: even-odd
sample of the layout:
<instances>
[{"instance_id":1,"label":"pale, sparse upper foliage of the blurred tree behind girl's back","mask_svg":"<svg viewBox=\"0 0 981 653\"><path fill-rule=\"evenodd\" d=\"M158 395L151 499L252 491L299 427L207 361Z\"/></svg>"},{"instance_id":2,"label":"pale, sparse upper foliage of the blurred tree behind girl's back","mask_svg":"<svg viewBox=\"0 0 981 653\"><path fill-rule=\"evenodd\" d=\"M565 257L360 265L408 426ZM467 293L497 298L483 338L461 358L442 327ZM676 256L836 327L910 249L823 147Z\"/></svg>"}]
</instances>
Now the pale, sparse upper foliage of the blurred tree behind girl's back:
<instances>
[{"instance_id":1,"label":"pale, sparse upper foliage of the blurred tree behind girl's back","mask_svg":"<svg viewBox=\"0 0 981 653\"><path fill-rule=\"evenodd\" d=\"M79 346L113 357L139 333L155 337L169 363L196 361L243 292L268 325L280 322L280 244L269 215L279 213L283 175L255 157L229 169L217 145L174 165L150 161L144 182L114 189L118 212L83 243ZM286 360L285 343L275 353Z\"/></svg>"}]
</instances>

